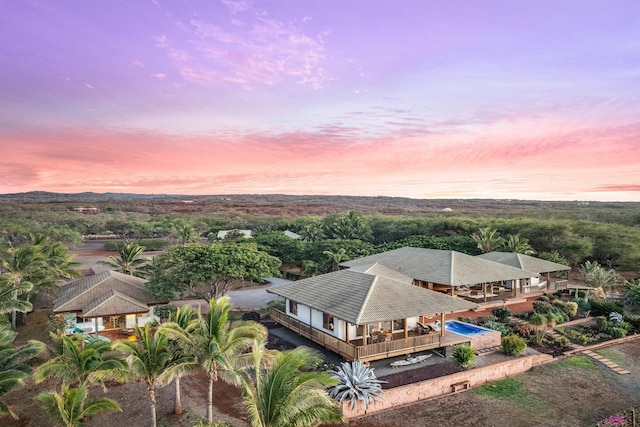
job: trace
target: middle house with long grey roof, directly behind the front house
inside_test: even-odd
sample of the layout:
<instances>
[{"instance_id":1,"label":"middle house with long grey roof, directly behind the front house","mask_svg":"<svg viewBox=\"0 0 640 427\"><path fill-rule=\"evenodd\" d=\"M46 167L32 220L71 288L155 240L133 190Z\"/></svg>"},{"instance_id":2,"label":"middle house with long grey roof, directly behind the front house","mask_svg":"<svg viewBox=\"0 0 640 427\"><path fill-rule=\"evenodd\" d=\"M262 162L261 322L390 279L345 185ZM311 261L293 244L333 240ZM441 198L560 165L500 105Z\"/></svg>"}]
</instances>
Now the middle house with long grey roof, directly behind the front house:
<instances>
[{"instance_id":1,"label":"middle house with long grey roof, directly behind the front house","mask_svg":"<svg viewBox=\"0 0 640 427\"><path fill-rule=\"evenodd\" d=\"M379 263L413 279L413 284L472 301L499 295L516 296L520 286L538 273L456 251L404 247L346 261L354 268ZM502 296L500 296L502 298Z\"/></svg>"}]
</instances>

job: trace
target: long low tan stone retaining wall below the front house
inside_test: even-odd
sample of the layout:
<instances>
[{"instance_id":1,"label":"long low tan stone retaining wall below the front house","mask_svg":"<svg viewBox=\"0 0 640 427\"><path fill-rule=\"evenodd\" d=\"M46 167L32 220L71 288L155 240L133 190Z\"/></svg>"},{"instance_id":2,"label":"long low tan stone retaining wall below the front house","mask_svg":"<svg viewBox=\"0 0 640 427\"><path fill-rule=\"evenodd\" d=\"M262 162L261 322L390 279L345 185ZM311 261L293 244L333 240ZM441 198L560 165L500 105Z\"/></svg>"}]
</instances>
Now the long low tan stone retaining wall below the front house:
<instances>
[{"instance_id":1,"label":"long low tan stone retaining wall below the front house","mask_svg":"<svg viewBox=\"0 0 640 427\"><path fill-rule=\"evenodd\" d=\"M419 383L388 389L385 390L382 396L384 400L376 400L370 403L366 413L371 414L397 408L420 400L452 394L454 390L462 390L476 387L487 382L501 380L512 375L526 372L552 359L553 357L548 354L517 357L481 368L469 369ZM358 401L352 410L351 402L345 401L342 404L342 413L346 419L361 417L365 415L364 403Z\"/></svg>"}]
</instances>

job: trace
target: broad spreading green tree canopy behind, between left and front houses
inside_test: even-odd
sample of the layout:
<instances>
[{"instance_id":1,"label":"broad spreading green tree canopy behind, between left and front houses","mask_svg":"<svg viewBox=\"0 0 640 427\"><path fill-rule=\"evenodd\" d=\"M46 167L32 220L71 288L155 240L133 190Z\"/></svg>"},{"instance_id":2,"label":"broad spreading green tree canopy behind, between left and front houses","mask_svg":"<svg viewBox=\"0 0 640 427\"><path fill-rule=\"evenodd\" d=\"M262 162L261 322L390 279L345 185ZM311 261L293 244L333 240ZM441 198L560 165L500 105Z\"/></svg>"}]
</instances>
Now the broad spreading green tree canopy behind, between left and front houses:
<instances>
[{"instance_id":1,"label":"broad spreading green tree canopy behind, between left and front houses","mask_svg":"<svg viewBox=\"0 0 640 427\"><path fill-rule=\"evenodd\" d=\"M147 287L158 299L219 298L242 280L279 276L280 264L255 243L190 243L156 257Z\"/></svg>"}]
</instances>

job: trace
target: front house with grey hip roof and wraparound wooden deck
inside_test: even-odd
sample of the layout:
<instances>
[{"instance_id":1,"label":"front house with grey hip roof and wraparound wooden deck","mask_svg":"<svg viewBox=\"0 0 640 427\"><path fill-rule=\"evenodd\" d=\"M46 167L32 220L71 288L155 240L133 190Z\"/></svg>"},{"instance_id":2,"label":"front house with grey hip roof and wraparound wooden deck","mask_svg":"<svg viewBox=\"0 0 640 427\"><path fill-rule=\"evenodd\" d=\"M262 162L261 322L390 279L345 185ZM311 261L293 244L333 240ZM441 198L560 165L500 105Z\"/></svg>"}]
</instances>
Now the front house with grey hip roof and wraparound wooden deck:
<instances>
[{"instance_id":1,"label":"front house with grey hip roof and wraparound wooden deck","mask_svg":"<svg viewBox=\"0 0 640 427\"><path fill-rule=\"evenodd\" d=\"M273 286L268 291L285 299L285 309L272 309L271 318L347 360L368 362L469 342L426 324L445 325L447 313L477 304L413 282L373 263Z\"/></svg>"}]
</instances>

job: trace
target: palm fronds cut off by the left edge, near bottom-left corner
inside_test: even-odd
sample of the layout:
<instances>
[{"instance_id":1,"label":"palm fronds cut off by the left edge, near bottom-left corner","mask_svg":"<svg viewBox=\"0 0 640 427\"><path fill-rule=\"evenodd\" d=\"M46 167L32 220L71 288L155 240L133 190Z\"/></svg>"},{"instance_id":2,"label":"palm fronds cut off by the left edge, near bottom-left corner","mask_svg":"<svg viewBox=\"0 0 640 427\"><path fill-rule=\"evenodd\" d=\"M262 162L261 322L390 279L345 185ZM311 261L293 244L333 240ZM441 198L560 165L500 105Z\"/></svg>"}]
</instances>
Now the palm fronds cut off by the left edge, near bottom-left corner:
<instances>
[{"instance_id":1,"label":"palm fronds cut off by the left edge, near bottom-left corner","mask_svg":"<svg viewBox=\"0 0 640 427\"><path fill-rule=\"evenodd\" d=\"M29 362L46 349L43 343L33 340L16 347L13 344L16 335L6 325L0 325L0 399L11 390L24 385L29 378ZM18 418L2 400L0 400L0 412Z\"/></svg>"}]
</instances>

